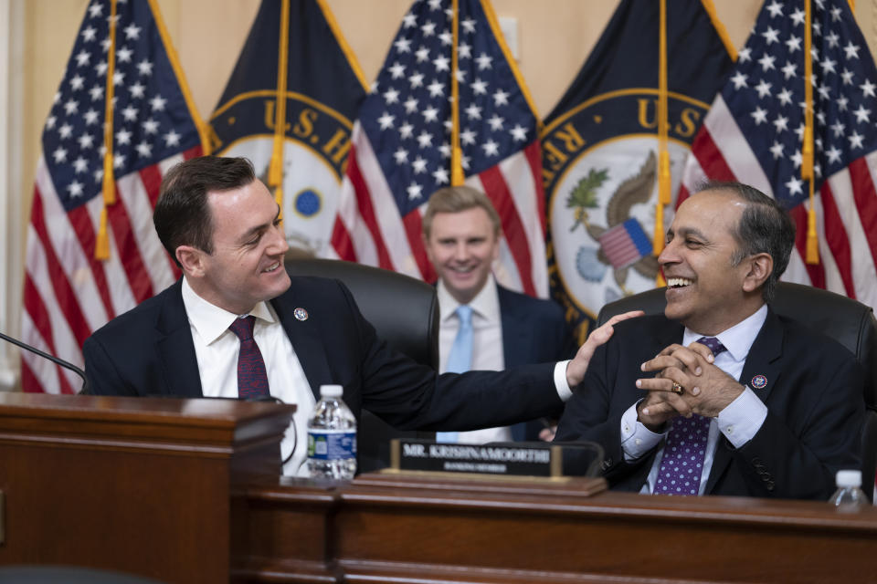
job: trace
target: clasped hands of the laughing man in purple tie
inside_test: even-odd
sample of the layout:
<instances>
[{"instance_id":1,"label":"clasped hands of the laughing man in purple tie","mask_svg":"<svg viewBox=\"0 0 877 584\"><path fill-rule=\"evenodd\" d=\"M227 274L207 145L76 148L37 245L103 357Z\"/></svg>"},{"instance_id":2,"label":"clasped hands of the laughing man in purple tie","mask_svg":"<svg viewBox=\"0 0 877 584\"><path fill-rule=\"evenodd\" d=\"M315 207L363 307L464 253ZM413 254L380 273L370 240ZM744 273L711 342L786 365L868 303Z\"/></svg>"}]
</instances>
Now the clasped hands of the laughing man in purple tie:
<instances>
[{"instance_id":1,"label":"clasped hands of the laughing man in purple tie","mask_svg":"<svg viewBox=\"0 0 877 584\"><path fill-rule=\"evenodd\" d=\"M679 415L716 417L745 388L713 365L714 360L713 351L695 342L688 347L673 344L643 363L641 370L658 374L637 380L637 387L647 391L637 406L639 422L660 433Z\"/></svg>"}]
</instances>

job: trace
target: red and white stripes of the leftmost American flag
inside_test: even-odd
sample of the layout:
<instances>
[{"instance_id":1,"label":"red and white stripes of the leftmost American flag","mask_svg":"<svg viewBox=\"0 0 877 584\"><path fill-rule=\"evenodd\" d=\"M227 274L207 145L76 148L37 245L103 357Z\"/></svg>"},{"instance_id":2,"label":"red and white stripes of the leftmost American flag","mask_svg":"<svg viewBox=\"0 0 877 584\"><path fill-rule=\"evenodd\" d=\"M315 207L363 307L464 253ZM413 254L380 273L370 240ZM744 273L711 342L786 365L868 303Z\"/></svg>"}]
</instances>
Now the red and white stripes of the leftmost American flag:
<instances>
[{"instance_id":1,"label":"red and white stripes of the leftmost American flag","mask_svg":"<svg viewBox=\"0 0 877 584\"><path fill-rule=\"evenodd\" d=\"M93 253L101 198L65 211L40 159L26 235L22 338L27 343L81 366L82 343L91 332L174 282L179 271L155 235L152 212L164 172L200 152L195 147L119 178L117 202L108 209L106 262ZM79 385L72 372L23 354L25 391L73 393Z\"/></svg>"}]
</instances>

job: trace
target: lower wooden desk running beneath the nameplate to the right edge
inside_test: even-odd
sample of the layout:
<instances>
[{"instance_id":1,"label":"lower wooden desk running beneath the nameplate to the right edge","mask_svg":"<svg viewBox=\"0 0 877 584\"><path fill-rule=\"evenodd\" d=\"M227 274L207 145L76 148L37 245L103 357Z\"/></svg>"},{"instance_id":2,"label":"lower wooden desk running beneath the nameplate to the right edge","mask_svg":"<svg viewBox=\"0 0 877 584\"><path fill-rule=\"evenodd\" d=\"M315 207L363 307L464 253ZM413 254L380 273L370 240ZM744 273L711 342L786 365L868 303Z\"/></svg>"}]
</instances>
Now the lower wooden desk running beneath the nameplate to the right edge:
<instances>
[{"instance_id":1,"label":"lower wooden desk running beneath the nameplate to the right edge","mask_svg":"<svg viewBox=\"0 0 877 584\"><path fill-rule=\"evenodd\" d=\"M365 474L233 497L236 581L872 582L877 509ZM597 495L589 495L597 491Z\"/></svg>"}]
</instances>

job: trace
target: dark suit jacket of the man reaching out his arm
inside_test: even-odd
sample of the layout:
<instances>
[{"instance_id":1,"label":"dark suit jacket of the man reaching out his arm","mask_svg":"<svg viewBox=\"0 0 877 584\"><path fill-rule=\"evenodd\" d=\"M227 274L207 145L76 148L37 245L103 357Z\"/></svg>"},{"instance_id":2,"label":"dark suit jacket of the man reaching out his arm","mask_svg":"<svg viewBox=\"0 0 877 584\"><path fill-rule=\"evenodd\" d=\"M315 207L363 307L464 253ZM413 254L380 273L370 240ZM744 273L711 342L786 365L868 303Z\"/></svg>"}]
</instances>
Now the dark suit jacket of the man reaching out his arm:
<instances>
[{"instance_id":1,"label":"dark suit jacket of the man reaching out his arm","mask_svg":"<svg viewBox=\"0 0 877 584\"><path fill-rule=\"evenodd\" d=\"M90 392L202 397L182 280L114 318L83 345ZM324 383L343 385L356 417L363 408L401 429L474 430L509 425L562 407L553 363L512 372L437 376L389 349L337 280L293 277L271 300L315 397ZM297 320L305 308L307 320Z\"/></svg>"}]
</instances>

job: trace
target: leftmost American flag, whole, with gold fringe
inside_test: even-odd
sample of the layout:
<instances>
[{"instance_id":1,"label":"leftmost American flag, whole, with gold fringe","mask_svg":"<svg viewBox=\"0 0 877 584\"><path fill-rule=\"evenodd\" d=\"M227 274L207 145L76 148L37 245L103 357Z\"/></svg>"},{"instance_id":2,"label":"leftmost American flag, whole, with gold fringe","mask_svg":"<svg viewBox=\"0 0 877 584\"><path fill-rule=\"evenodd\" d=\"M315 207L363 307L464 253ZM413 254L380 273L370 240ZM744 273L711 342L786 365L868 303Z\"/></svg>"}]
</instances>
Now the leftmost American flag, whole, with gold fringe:
<instances>
[{"instance_id":1,"label":"leftmost American flag, whole, with gold fringe","mask_svg":"<svg viewBox=\"0 0 877 584\"><path fill-rule=\"evenodd\" d=\"M159 184L201 139L185 82L153 2L90 2L43 130L27 227L22 337L81 366L82 342L109 319L174 282L153 229ZM112 51L112 53L111 53ZM104 202L107 76L112 67L110 257L95 259ZM25 391L73 393L78 378L25 353Z\"/></svg>"}]
</instances>

